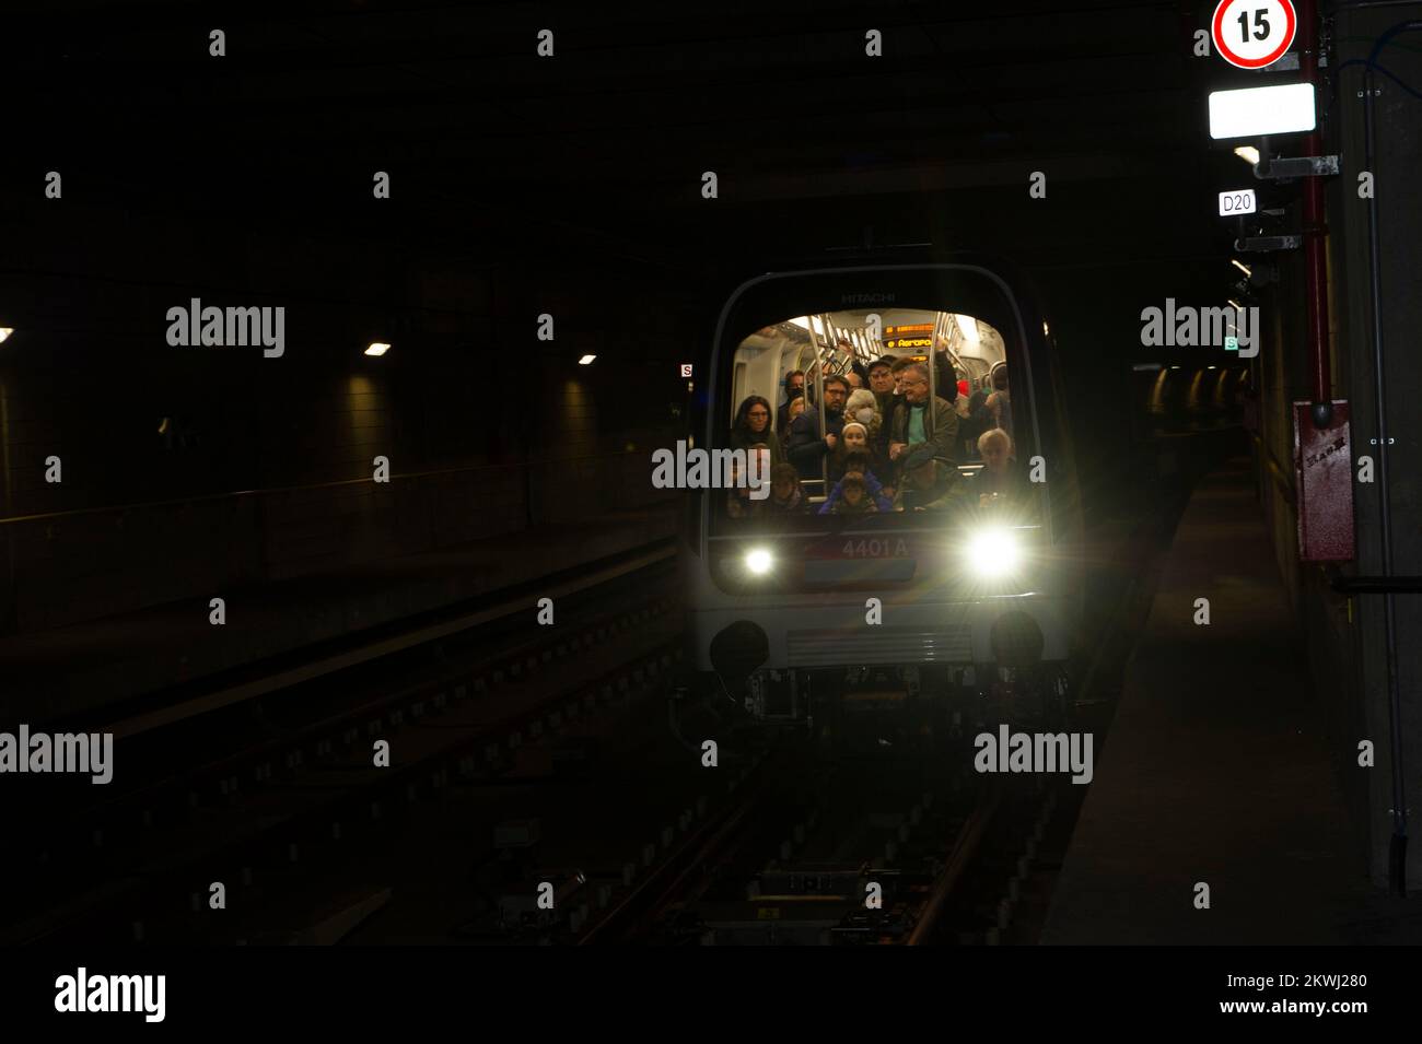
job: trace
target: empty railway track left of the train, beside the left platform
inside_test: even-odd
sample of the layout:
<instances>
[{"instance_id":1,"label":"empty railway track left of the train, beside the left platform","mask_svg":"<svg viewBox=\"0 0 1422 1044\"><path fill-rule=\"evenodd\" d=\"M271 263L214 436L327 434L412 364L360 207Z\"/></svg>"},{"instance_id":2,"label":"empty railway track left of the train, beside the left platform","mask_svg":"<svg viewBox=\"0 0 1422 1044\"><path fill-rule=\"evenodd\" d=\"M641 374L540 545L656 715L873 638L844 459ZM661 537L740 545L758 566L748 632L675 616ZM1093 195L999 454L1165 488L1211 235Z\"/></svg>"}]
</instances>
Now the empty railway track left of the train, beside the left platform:
<instances>
[{"instance_id":1,"label":"empty railway track left of the train, beside the left platform","mask_svg":"<svg viewBox=\"0 0 1422 1044\"><path fill-rule=\"evenodd\" d=\"M616 611L569 612L563 626L496 651L437 655L404 685L387 678L341 692L326 683L304 696L280 693L279 722L249 702L129 739L118 757L158 743L179 751L175 733L206 743L181 768L139 774L118 794L101 791L95 801L71 788L31 807L27 835L38 844L7 871L11 888L33 901L23 919L0 928L0 940L191 937L193 908L206 906L196 888L249 883L273 849L296 865L303 842L320 834L338 839L348 824L378 820L451 777L508 770L526 740L629 700L671 666L678 651L667 577L664 564L637 571ZM378 740L390 744L388 767L374 764Z\"/></svg>"}]
</instances>

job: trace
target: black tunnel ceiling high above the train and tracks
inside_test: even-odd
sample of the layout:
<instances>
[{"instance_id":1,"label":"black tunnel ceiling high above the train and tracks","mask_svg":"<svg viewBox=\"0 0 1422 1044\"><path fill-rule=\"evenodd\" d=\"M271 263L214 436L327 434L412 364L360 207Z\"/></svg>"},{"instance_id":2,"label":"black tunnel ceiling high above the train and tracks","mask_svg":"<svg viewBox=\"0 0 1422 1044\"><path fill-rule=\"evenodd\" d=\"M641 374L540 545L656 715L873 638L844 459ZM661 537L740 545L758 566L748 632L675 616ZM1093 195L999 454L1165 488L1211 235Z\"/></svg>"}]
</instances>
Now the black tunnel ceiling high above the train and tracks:
<instances>
[{"instance_id":1,"label":"black tunnel ceiling high above the train and tracks","mask_svg":"<svg viewBox=\"0 0 1422 1044\"><path fill-rule=\"evenodd\" d=\"M44 87L16 114L7 180L64 162L84 202L336 227L378 169L407 244L476 254L518 220L656 257L704 224L702 170L724 205L702 232L774 237L792 210L857 222L846 200L893 226L924 193L1025 197L1041 169L1058 197L1109 183L1119 210L1158 209L1189 256L1207 230L1158 205L1204 166L1203 18L1044 0L31 4L3 75L7 94ZM213 27L226 58L208 55ZM543 27L553 60L535 55ZM865 58L867 28L883 58Z\"/></svg>"}]
</instances>

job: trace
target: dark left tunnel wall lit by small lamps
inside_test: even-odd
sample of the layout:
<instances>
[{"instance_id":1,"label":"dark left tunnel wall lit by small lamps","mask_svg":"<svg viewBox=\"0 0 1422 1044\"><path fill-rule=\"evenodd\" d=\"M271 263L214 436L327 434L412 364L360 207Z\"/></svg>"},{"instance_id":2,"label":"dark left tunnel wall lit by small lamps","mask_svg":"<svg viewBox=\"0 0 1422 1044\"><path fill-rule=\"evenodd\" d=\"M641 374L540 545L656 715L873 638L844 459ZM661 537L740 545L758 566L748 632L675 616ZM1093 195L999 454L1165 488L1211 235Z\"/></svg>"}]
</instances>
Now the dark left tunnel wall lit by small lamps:
<instances>
[{"instance_id":1,"label":"dark left tunnel wall lit by small lamps","mask_svg":"<svg viewBox=\"0 0 1422 1044\"><path fill-rule=\"evenodd\" d=\"M671 354L674 307L634 324L607 307L668 300L644 271L574 260L539 286L518 259L351 237L225 229L215 250L176 216L4 217L0 254L23 274L0 349L0 517L28 520L0 526L0 634L633 507L651 445L675 437L670 365L660 385L610 365ZM286 307L284 354L169 347L166 310L192 297ZM552 342L535 338L543 311ZM395 348L367 358L371 339ZM604 365L579 366L584 351ZM375 456L388 484L370 482Z\"/></svg>"}]
</instances>

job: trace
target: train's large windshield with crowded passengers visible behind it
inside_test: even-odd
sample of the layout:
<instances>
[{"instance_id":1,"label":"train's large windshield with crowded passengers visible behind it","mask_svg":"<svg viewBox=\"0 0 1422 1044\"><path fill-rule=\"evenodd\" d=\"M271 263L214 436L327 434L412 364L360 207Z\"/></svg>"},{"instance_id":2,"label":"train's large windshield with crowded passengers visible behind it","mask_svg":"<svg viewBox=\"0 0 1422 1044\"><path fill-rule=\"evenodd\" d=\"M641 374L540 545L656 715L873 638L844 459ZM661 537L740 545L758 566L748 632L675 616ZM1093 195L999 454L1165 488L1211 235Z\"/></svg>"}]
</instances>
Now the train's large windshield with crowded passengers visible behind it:
<instances>
[{"instance_id":1,"label":"train's large windshield with crowded passengers visible behind it","mask_svg":"<svg viewBox=\"0 0 1422 1044\"><path fill-rule=\"evenodd\" d=\"M789 315L732 344L714 428L747 474L708 494L712 535L1032 514L1012 349L985 320L913 308Z\"/></svg>"}]
</instances>

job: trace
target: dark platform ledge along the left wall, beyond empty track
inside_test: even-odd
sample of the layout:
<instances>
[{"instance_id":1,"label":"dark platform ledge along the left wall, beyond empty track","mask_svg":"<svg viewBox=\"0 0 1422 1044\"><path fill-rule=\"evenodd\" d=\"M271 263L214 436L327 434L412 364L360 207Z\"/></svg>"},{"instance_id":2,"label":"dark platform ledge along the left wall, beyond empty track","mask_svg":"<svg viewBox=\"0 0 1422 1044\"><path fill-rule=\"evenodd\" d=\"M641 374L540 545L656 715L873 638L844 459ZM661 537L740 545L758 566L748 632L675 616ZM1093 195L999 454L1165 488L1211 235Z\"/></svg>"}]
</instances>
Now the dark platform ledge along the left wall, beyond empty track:
<instances>
[{"instance_id":1,"label":"dark platform ledge along the left wall, beyond empty track","mask_svg":"<svg viewBox=\"0 0 1422 1044\"><path fill-rule=\"evenodd\" d=\"M353 642L378 648L374 643L384 641L388 648L415 636L428 641L506 614L505 602L523 595L533 599L532 611L539 597L556 598L634 568L638 548L677 533L680 509L680 499L667 499L577 524L536 526L223 591L223 626L209 622L202 598L11 635L0 639L6 717L33 727L107 729L115 709L129 714L146 693L179 686L185 697L210 689L252 692L283 678L301 680L321 656L327 669L348 665ZM602 572L600 564L607 564Z\"/></svg>"}]
</instances>

